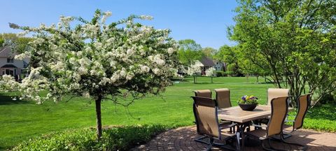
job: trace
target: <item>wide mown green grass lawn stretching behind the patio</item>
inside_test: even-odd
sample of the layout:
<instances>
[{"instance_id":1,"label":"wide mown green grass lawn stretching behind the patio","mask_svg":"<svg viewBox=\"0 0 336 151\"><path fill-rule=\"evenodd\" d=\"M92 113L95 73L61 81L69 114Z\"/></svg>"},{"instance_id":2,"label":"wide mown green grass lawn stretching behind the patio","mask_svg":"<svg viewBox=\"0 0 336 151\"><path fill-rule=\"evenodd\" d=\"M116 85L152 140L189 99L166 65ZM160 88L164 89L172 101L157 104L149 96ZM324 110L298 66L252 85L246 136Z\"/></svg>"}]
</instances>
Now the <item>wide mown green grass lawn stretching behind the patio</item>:
<instances>
[{"instance_id":1,"label":"wide mown green grass lawn stretching behind the patio","mask_svg":"<svg viewBox=\"0 0 336 151\"><path fill-rule=\"evenodd\" d=\"M102 103L103 125L161 124L169 128L192 125L194 121L190 96L195 89L231 90L231 101L245 94L258 96L261 104L266 102L266 91L272 84L255 84L255 78L192 78L167 87L162 97L148 96L126 108L115 106L111 101ZM0 94L0 150L10 148L21 141L52 131L95 127L94 101L77 97L71 101L54 103L47 101L37 105L33 101L13 101L14 94ZM213 94L214 95L214 94ZM66 100L66 98L64 98ZM335 105L325 105L307 115L304 127L325 131L336 131ZM140 120L137 120L140 118Z\"/></svg>"}]
</instances>

